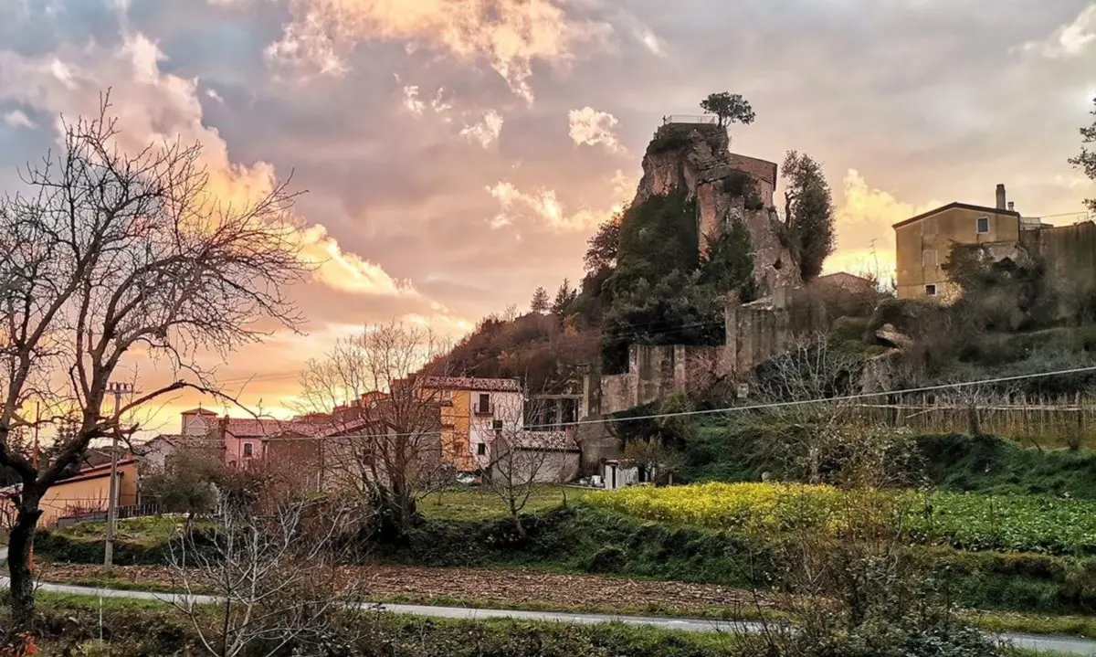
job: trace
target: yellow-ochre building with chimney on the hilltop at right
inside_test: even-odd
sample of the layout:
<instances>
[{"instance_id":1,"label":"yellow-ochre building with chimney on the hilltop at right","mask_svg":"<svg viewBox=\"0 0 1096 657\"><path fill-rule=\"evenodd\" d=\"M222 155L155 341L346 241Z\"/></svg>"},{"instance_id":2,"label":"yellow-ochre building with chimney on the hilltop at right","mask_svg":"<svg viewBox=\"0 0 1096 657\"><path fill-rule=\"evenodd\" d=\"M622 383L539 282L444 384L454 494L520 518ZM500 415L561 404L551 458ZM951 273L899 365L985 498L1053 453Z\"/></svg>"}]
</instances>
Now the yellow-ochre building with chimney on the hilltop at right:
<instances>
[{"instance_id":1,"label":"yellow-ochre building with chimney on the hilltop at right","mask_svg":"<svg viewBox=\"0 0 1096 657\"><path fill-rule=\"evenodd\" d=\"M944 271L954 245L1019 242L1020 214L1005 185L997 185L996 196L996 207L956 202L894 224L899 298L954 299L958 287Z\"/></svg>"}]
</instances>

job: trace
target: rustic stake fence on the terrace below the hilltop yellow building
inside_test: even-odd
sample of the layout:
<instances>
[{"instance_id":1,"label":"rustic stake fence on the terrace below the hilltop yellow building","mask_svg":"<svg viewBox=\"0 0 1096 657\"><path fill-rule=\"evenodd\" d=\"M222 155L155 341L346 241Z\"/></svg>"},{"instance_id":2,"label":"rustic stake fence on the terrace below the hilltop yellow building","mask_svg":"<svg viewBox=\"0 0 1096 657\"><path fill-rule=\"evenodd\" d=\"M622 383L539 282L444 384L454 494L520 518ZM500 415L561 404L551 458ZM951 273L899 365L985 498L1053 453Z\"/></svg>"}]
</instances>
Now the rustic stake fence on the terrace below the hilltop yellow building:
<instances>
[{"instance_id":1,"label":"rustic stake fence on the terrace below the hilltop yellow building","mask_svg":"<svg viewBox=\"0 0 1096 657\"><path fill-rule=\"evenodd\" d=\"M892 397L861 404L874 422L918 433L967 432L975 421L984 433L1044 445L1096 444L1096 399L1073 395L1008 395L998 398Z\"/></svg>"}]
</instances>

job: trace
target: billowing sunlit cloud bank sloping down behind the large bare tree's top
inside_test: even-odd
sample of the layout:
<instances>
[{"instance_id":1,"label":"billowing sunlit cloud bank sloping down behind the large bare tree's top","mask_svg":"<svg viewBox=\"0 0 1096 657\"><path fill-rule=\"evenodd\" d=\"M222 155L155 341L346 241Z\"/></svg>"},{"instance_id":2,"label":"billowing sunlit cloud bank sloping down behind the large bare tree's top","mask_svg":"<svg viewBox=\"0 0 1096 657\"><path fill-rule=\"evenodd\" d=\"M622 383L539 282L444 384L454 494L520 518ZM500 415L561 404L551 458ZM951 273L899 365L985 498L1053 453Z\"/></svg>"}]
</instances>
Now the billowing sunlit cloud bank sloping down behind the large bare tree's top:
<instances>
[{"instance_id":1,"label":"billowing sunlit cloud bank sloping down behind the large bare tree's top","mask_svg":"<svg viewBox=\"0 0 1096 657\"><path fill-rule=\"evenodd\" d=\"M68 120L98 115L100 91L112 87L111 112L118 120L118 146L138 152L149 144L198 143L209 171L209 192L220 200L246 204L269 193L276 181L274 167L233 162L216 128L203 123L197 80L160 70L163 53L141 34L124 35L116 49L91 45L25 57L0 50L0 100L25 103ZM5 117L7 118L7 117ZM60 118L54 125L58 138ZM342 250L318 224L301 235L304 257L319 269L316 279L359 294L413 293L391 280L378 265Z\"/></svg>"}]
</instances>

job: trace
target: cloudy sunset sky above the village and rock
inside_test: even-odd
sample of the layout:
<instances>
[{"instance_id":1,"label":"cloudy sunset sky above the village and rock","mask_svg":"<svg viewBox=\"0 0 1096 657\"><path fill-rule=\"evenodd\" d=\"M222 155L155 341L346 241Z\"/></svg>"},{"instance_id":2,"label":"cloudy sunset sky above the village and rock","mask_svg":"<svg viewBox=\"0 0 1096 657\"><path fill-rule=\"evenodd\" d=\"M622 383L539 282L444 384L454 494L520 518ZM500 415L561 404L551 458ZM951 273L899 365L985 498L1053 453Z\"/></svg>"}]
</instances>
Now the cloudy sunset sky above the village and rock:
<instances>
[{"instance_id":1,"label":"cloudy sunset sky above the village and rock","mask_svg":"<svg viewBox=\"0 0 1096 657\"><path fill-rule=\"evenodd\" d=\"M459 337L580 280L662 117L713 91L757 114L732 150L823 162L830 271L888 275L891 224L997 183L1025 216L1082 218L1096 189L1066 160L1094 65L1088 0L0 0L0 189L107 88L125 147L198 141L219 193L292 177L322 262L293 291L308 324L217 370L285 415L364 325Z\"/></svg>"}]
</instances>

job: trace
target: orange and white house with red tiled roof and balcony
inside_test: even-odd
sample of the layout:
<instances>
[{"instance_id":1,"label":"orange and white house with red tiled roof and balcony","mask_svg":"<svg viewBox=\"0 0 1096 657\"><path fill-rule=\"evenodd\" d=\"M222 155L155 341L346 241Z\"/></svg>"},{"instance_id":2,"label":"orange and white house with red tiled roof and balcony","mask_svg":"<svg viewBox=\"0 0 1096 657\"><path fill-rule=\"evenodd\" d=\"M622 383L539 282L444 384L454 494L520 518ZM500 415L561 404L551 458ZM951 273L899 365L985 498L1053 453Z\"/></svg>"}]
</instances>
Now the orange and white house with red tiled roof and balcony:
<instances>
[{"instance_id":1,"label":"orange and white house with red tiled roof and balcony","mask_svg":"<svg viewBox=\"0 0 1096 657\"><path fill-rule=\"evenodd\" d=\"M523 423L525 400L516 380L429 376L423 387L437 394L442 458L458 472L487 467L495 432Z\"/></svg>"}]
</instances>

